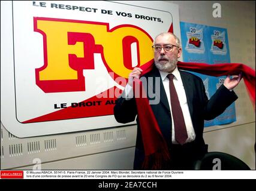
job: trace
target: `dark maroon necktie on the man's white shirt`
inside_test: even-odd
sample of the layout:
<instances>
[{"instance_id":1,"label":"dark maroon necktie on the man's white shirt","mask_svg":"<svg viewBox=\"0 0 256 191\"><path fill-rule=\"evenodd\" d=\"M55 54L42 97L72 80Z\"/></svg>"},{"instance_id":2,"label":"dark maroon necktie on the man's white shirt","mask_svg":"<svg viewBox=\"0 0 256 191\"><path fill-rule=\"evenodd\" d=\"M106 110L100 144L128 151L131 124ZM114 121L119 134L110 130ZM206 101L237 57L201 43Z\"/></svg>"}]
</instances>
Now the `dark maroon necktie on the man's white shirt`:
<instances>
[{"instance_id":1,"label":"dark maroon necktie on the man's white shirt","mask_svg":"<svg viewBox=\"0 0 256 191\"><path fill-rule=\"evenodd\" d=\"M175 139L179 144L184 144L188 138L188 134L186 133L186 125L180 107L179 98L173 84L174 75L170 73L167 77L170 80L171 111L173 113Z\"/></svg>"}]
</instances>

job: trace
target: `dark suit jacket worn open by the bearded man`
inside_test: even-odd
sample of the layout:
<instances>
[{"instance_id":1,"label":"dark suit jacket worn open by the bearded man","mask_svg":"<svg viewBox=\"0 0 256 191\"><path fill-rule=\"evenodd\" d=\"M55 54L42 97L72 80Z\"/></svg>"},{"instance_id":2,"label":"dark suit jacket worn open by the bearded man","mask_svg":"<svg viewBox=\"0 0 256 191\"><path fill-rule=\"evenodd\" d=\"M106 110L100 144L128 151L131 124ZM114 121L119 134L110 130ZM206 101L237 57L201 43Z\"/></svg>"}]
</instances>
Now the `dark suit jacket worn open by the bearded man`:
<instances>
[{"instance_id":1,"label":"dark suit jacket worn open by the bearded man","mask_svg":"<svg viewBox=\"0 0 256 191\"><path fill-rule=\"evenodd\" d=\"M196 134L195 140L191 143L183 144L183 146L171 143L170 107L159 70L156 69L156 67L144 75L147 83L143 83L143 85L147 87L147 93L153 91L153 93L156 93L156 98L159 98L160 100L158 104L150 104L150 106L152 107L159 128L162 131L162 135L168 144L170 156L173 160L171 169L189 170L191 169L192 163L207 152L207 145L203 140L204 119L210 120L220 115L231 103L233 103L234 100L237 99L237 96L234 91L229 91L224 85L221 85L210 100L208 100L201 78L189 72L179 71L185 88L189 112ZM153 83L150 83L148 80L150 77L152 77L151 79L153 79ZM157 85L155 83L156 77L158 77L160 82L160 94L155 92ZM150 100L149 94L147 94L147 96ZM114 107L114 115L116 121L121 123L134 121L135 116L137 115L135 99L125 100L124 97L119 97ZM141 164L144 159L144 148L138 118L137 125L134 169L141 169Z\"/></svg>"}]
</instances>

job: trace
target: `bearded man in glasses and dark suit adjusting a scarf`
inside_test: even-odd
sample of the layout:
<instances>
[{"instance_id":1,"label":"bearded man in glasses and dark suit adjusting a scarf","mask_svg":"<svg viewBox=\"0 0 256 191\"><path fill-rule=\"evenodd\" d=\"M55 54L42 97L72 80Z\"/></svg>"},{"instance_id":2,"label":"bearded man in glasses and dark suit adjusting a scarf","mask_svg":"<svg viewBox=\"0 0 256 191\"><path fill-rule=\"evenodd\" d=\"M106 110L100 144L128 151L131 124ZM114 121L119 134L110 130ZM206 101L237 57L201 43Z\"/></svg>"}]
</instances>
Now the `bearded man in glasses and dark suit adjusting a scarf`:
<instances>
[{"instance_id":1,"label":"bearded man in glasses and dark suit adjusting a scarf","mask_svg":"<svg viewBox=\"0 0 256 191\"><path fill-rule=\"evenodd\" d=\"M160 99L159 103L150 104L150 106L171 157L170 164L165 165L164 169L192 170L194 162L207 152L207 145L203 140L204 120L214 119L237 99L233 88L239 84L241 75L234 75L233 78L227 76L224 84L208 100L203 81L191 73L177 69L177 59L182 55L182 48L179 39L173 33L161 33L156 36L152 48L155 67L146 73L144 78L153 78L153 82L156 82L157 78L161 79L159 85L147 87L152 87L152 91ZM140 78L141 72L142 70L138 67L132 70L128 85L122 97L119 97L116 102L114 114L118 122L134 121L137 115L135 99L131 96L134 94L131 87L133 79ZM170 73L173 77L170 77ZM171 89L173 88L171 81L175 90ZM156 92L158 86L159 94ZM174 91L178 100L173 96ZM176 114L178 110L180 112ZM176 119L177 117L179 119ZM180 125L182 121L183 125ZM138 118L137 124L134 169L140 170L145 155ZM181 129L183 135L180 135ZM183 141L180 141L179 137L182 137Z\"/></svg>"}]
</instances>

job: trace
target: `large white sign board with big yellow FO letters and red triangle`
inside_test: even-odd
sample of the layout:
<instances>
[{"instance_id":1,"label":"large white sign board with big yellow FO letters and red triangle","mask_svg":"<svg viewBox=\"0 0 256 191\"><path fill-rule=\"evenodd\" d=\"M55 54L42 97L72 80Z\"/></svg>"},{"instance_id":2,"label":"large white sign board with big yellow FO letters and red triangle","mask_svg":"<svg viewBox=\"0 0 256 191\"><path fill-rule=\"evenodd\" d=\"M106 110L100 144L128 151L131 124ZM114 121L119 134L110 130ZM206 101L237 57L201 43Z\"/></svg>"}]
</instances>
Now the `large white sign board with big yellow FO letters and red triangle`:
<instances>
[{"instance_id":1,"label":"large white sign board with big yellow FO letters and red triangle","mask_svg":"<svg viewBox=\"0 0 256 191\"><path fill-rule=\"evenodd\" d=\"M156 35L180 37L178 6L165 2L3 5L1 122L17 137L122 125L113 107L128 74L152 60Z\"/></svg>"}]
</instances>

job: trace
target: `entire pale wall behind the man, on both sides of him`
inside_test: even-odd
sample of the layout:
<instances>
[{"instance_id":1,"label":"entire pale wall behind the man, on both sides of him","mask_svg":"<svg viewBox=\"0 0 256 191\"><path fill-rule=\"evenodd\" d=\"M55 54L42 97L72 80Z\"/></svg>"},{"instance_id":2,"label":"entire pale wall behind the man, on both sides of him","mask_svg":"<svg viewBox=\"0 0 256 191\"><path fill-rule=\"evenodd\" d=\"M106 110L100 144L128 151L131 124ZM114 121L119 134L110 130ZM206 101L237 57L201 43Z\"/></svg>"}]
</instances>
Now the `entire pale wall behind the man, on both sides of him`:
<instances>
[{"instance_id":1,"label":"entire pale wall behind the man, on both sides of him","mask_svg":"<svg viewBox=\"0 0 256 191\"><path fill-rule=\"evenodd\" d=\"M212 17L212 1L168 2L179 5L180 21L227 28L231 62L255 69L254 1L217 1L221 18ZM235 91L237 121L206 128L204 138L210 151L230 153L255 169L255 112L245 85ZM32 169L38 158L42 169L131 169L135 136L135 126L129 126L17 138L1 124L1 169Z\"/></svg>"}]
</instances>

